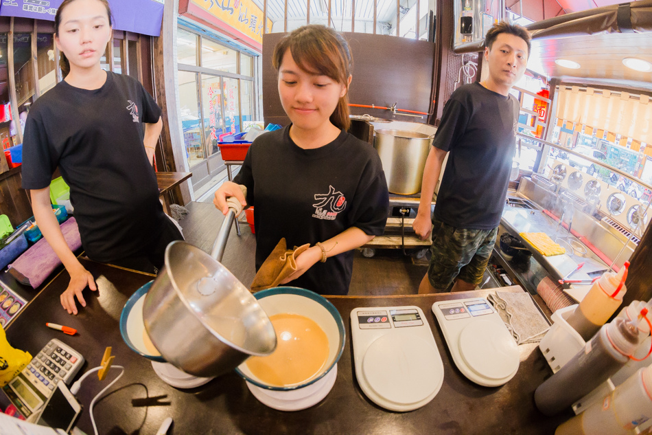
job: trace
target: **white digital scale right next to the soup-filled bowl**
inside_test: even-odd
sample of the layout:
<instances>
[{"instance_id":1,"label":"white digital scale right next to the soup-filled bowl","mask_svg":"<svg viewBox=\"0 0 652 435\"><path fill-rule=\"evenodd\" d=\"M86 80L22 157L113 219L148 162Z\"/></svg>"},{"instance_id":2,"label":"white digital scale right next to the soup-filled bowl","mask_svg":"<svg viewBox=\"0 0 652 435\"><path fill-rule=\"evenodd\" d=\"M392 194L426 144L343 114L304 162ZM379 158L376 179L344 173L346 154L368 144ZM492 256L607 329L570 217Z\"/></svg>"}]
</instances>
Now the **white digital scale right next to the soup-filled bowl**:
<instances>
[{"instance_id":1,"label":"white digital scale right next to the soup-filled bowl","mask_svg":"<svg viewBox=\"0 0 652 435\"><path fill-rule=\"evenodd\" d=\"M377 405L416 410L439 392L443 363L419 307L353 309L351 337L358 383Z\"/></svg>"}]
</instances>

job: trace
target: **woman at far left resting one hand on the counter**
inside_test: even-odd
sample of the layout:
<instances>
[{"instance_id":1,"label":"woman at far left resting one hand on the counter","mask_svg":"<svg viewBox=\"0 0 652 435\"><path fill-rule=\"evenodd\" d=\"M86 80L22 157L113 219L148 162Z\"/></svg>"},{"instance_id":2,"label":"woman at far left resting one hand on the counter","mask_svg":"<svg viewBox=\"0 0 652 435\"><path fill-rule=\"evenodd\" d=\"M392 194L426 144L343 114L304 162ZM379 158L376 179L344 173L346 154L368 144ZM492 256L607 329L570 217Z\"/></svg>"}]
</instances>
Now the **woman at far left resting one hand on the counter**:
<instances>
[{"instance_id":1,"label":"woman at far left resting one hand on the counter","mask_svg":"<svg viewBox=\"0 0 652 435\"><path fill-rule=\"evenodd\" d=\"M96 290L93 276L69 249L49 199L57 167L70 186L82 246L91 260L162 267L167 243L183 238L159 202L152 158L161 109L135 79L100 68L113 29L106 0L65 0L54 19L64 77L38 98L23 140L23 188L31 190L36 223L70 274L61 294ZM146 263L145 263L146 264Z\"/></svg>"}]
</instances>

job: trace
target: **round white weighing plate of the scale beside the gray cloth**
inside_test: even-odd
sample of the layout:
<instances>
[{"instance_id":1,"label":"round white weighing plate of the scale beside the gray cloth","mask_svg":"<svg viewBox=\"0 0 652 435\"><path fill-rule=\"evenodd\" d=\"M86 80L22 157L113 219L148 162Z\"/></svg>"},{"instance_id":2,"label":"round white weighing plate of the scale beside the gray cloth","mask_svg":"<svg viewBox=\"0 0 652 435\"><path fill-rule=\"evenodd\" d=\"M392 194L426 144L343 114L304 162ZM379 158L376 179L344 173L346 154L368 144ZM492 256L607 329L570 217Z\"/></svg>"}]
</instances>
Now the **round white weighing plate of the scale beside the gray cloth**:
<instances>
[{"instance_id":1,"label":"round white weighing plate of the scale beside the gray cloth","mask_svg":"<svg viewBox=\"0 0 652 435\"><path fill-rule=\"evenodd\" d=\"M518 369L518 346L502 322L475 320L467 324L458 345L467 366L487 379L511 377Z\"/></svg>"}]
</instances>

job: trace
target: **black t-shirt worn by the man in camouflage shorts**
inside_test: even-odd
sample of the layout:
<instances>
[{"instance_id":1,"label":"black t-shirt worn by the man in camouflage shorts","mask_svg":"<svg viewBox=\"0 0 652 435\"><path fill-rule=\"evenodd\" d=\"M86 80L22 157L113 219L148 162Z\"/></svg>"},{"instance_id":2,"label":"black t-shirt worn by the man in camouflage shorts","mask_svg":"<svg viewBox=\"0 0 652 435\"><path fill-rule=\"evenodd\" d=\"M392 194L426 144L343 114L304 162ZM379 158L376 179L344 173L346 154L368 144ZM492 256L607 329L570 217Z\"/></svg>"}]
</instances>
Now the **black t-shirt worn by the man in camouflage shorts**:
<instances>
[{"instance_id":1,"label":"black t-shirt worn by the man in camouflage shorts","mask_svg":"<svg viewBox=\"0 0 652 435\"><path fill-rule=\"evenodd\" d=\"M450 151L434 219L491 230L500 224L515 153L519 104L479 83L453 92L433 146Z\"/></svg>"}]
</instances>

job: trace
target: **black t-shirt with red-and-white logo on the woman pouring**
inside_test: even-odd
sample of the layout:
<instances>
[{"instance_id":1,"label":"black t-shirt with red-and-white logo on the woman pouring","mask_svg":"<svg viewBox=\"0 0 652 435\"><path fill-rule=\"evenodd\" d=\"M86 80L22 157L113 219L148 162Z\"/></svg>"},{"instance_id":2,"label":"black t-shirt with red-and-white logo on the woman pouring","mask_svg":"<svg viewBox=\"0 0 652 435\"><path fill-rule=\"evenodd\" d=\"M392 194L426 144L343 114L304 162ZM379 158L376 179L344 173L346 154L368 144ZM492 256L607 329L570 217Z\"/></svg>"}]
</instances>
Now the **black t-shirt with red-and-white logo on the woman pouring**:
<instances>
[{"instance_id":1,"label":"black t-shirt with red-and-white logo on the woman pouring","mask_svg":"<svg viewBox=\"0 0 652 435\"><path fill-rule=\"evenodd\" d=\"M350 227L377 236L387 220L387 183L371 145L342 131L333 142L304 150L289 131L287 126L257 137L235 177L255 209L256 269L282 237L292 248L326 241ZM352 269L349 251L316 263L288 285L345 295Z\"/></svg>"}]
</instances>

